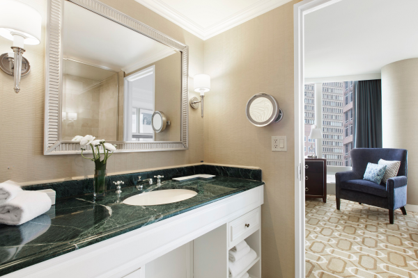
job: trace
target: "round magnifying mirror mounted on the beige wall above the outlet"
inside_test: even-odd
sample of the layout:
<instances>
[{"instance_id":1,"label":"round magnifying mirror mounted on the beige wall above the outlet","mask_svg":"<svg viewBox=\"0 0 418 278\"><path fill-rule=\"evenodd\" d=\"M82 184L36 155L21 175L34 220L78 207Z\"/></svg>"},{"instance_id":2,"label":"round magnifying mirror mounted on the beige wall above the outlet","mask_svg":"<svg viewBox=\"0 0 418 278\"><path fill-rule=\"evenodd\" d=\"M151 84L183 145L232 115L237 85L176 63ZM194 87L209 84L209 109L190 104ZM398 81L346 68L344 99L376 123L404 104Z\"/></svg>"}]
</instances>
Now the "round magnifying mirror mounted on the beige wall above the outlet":
<instances>
[{"instance_id":1,"label":"round magnifying mirror mounted on the beige wall above the outlet","mask_svg":"<svg viewBox=\"0 0 418 278\"><path fill-rule=\"evenodd\" d=\"M260 92L249 99L247 119L255 126L266 126L279 116L279 104L271 95Z\"/></svg>"}]
</instances>

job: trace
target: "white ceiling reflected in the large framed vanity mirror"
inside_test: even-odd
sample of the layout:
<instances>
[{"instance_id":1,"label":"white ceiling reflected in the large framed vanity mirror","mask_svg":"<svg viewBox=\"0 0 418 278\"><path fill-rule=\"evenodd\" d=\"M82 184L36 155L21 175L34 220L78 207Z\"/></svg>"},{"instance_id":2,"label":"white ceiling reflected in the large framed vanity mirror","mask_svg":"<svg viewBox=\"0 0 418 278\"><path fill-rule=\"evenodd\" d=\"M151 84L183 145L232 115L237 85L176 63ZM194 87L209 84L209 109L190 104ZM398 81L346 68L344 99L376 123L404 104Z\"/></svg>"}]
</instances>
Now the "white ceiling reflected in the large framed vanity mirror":
<instances>
[{"instance_id":1,"label":"white ceiling reflected in the large framed vanity mirror","mask_svg":"<svg viewBox=\"0 0 418 278\"><path fill-rule=\"evenodd\" d=\"M64 1L63 56L116 72L133 72L176 51Z\"/></svg>"}]
</instances>

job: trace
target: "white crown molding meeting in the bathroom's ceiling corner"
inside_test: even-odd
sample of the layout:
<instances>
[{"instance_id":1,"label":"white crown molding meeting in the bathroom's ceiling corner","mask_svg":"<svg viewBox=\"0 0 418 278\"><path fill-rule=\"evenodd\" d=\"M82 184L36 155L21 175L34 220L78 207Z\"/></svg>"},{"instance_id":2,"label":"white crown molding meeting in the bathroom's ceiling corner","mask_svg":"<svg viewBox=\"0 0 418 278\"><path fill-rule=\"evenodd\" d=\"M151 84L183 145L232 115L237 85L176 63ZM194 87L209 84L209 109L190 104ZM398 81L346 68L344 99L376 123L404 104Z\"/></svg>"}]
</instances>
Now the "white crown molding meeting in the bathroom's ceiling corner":
<instances>
[{"instance_id":1,"label":"white crown molding meeting in the bathroom's ceiling corner","mask_svg":"<svg viewBox=\"0 0 418 278\"><path fill-rule=\"evenodd\" d=\"M290 2L291 0L261 0L253 5L241 10L226 19L212 24L208 28L203 28L196 22L192 21L182 13L179 13L177 10L171 8L162 0L135 0L141 5L153 10L158 15L169 19L169 21L177 24L181 28L185 29L189 33L196 35L196 37L201 38L202 40L208 40L215 35L218 35L226 30L229 30L235 26L238 26L244 22L247 22L249 19L258 17L258 15L263 15L274 8L277 8L285 3Z\"/></svg>"}]
</instances>

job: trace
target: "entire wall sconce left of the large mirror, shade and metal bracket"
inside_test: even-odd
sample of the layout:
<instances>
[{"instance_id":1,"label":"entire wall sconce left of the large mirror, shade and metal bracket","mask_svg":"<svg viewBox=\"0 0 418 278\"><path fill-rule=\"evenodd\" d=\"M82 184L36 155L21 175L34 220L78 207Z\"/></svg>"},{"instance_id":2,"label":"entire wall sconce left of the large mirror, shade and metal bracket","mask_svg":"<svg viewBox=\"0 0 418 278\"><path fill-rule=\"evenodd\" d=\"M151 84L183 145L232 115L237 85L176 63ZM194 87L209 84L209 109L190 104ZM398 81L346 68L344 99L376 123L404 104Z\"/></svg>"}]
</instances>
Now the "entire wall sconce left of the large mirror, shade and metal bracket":
<instances>
[{"instance_id":1,"label":"entire wall sconce left of the large mirror, shade and metal bracket","mask_svg":"<svg viewBox=\"0 0 418 278\"><path fill-rule=\"evenodd\" d=\"M29 61L22 57L24 44L40 43L42 17L34 8L15 0L0 0L0 35L12 40L10 51L0 56L0 68L15 77L15 92L20 91L20 77L29 73Z\"/></svg>"}]
</instances>

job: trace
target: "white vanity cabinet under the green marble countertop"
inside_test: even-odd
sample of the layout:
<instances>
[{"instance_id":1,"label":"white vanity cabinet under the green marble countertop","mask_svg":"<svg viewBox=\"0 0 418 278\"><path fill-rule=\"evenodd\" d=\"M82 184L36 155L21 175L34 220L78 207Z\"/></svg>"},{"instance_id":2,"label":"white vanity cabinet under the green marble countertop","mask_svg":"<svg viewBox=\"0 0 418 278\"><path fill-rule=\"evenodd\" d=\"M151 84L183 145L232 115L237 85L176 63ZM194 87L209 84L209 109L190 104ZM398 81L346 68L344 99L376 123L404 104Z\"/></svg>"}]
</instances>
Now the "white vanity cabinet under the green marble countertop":
<instances>
[{"instance_id":1,"label":"white vanity cabinet under the green marble countertop","mask_svg":"<svg viewBox=\"0 0 418 278\"><path fill-rule=\"evenodd\" d=\"M257 253L247 268L249 275L261 278L263 188L220 199L3 277L229 278L229 250L245 239Z\"/></svg>"}]
</instances>

